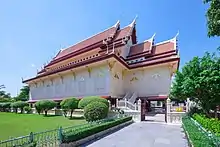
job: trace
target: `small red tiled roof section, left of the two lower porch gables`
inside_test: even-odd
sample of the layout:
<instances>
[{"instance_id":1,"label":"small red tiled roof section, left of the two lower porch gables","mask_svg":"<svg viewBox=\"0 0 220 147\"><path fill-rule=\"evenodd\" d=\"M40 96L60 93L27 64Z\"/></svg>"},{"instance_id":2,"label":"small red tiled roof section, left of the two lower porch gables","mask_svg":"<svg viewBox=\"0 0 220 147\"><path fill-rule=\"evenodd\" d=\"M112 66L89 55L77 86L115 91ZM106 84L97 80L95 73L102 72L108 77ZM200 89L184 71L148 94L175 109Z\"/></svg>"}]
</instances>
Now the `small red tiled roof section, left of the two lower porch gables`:
<instances>
[{"instance_id":1,"label":"small red tiled roof section, left of the two lower porch gables","mask_svg":"<svg viewBox=\"0 0 220 147\"><path fill-rule=\"evenodd\" d=\"M146 41L143 43L133 45L130 48L130 52L129 52L128 56L134 56L134 55L137 55L137 54L140 54L143 52L150 51L151 47L152 47L152 42L150 42L150 41Z\"/></svg>"}]
</instances>

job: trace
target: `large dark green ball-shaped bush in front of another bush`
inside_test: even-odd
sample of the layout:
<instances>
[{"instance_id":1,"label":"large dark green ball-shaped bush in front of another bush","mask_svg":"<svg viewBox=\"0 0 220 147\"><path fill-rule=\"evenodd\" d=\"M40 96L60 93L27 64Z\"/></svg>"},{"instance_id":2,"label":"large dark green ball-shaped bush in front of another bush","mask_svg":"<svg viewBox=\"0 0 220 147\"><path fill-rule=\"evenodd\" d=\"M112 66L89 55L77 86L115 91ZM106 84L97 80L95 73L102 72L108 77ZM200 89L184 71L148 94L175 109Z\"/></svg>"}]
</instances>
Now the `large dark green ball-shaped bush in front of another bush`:
<instances>
[{"instance_id":1,"label":"large dark green ball-shaped bush in front of another bush","mask_svg":"<svg viewBox=\"0 0 220 147\"><path fill-rule=\"evenodd\" d=\"M107 115L108 106L102 102L91 102L84 108L84 117L89 122L106 118Z\"/></svg>"}]
</instances>

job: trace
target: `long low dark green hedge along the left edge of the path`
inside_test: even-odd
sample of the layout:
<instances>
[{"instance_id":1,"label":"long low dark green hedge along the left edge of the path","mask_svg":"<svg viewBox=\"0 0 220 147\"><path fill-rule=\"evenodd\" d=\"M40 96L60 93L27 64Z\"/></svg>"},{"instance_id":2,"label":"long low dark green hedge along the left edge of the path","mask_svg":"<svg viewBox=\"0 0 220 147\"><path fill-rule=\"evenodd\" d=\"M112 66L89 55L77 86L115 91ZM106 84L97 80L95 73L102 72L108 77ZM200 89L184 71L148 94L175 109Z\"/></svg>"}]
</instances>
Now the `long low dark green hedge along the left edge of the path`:
<instances>
[{"instance_id":1,"label":"long low dark green hedge along the left edge of the path","mask_svg":"<svg viewBox=\"0 0 220 147\"><path fill-rule=\"evenodd\" d=\"M125 118L119 118L116 120L112 120L109 122L104 122L101 124L89 124L85 125L83 127L74 128L70 131L67 131L63 134L63 143L69 143L74 142L80 139L83 139L85 137L91 136L93 134L99 133L101 131L104 131L106 129L112 128L114 126L117 126L119 124L125 123L127 121L132 120L132 117L125 117Z\"/></svg>"}]
</instances>

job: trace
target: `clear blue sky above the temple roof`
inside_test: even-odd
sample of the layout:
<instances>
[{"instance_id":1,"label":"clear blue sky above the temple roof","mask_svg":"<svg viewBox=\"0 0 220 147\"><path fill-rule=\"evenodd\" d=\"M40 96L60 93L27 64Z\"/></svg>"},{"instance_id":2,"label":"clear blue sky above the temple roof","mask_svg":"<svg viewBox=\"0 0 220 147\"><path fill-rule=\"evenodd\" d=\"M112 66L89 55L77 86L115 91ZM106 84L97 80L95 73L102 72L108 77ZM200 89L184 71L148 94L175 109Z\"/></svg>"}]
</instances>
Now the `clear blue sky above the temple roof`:
<instances>
[{"instance_id":1,"label":"clear blue sky above the temple roof","mask_svg":"<svg viewBox=\"0 0 220 147\"><path fill-rule=\"evenodd\" d=\"M155 32L156 42L179 34L181 66L205 51L215 51L220 38L208 38L202 0L84 1L5 0L0 2L0 84L13 96L21 77L36 75L62 47L68 47L120 20L128 25L136 15L137 38Z\"/></svg>"}]
</instances>

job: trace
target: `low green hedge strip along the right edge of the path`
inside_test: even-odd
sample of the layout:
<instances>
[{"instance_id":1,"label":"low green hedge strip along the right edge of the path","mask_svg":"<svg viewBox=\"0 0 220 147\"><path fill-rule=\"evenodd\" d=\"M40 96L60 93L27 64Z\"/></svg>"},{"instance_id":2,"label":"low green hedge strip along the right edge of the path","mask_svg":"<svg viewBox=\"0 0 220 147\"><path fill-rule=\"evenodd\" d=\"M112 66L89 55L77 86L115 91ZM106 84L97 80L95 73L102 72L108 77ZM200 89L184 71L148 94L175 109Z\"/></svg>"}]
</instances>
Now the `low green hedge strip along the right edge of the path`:
<instances>
[{"instance_id":1,"label":"low green hedge strip along the right edge of the path","mask_svg":"<svg viewBox=\"0 0 220 147\"><path fill-rule=\"evenodd\" d=\"M182 120L183 128L188 132L189 139L194 147L215 147L214 140L208 138L200 128L198 128L190 117L186 116Z\"/></svg>"}]
</instances>

